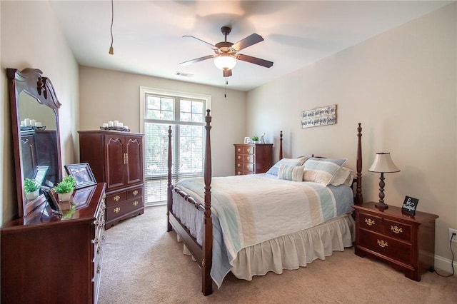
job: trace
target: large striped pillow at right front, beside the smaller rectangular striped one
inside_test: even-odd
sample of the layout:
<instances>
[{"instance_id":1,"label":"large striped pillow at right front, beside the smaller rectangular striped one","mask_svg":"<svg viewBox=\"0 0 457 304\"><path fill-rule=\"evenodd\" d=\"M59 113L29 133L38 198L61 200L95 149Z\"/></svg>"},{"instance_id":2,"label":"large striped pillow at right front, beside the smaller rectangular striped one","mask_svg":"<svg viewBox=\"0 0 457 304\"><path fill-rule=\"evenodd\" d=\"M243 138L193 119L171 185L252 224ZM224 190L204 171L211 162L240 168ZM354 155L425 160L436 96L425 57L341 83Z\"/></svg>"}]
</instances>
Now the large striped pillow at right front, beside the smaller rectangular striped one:
<instances>
[{"instance_id":1,"label":"large striped pillow at right front, beside the smaller rectangular striped one","mask_svg":"<svg viewBox=\"0 0 457 304\"><path fill-rule=\"evenodd\" d=\"M347 158L309 158L304 164L303 181L313 181L328 186L346 161Z\"/></svg>"}]
</instances>

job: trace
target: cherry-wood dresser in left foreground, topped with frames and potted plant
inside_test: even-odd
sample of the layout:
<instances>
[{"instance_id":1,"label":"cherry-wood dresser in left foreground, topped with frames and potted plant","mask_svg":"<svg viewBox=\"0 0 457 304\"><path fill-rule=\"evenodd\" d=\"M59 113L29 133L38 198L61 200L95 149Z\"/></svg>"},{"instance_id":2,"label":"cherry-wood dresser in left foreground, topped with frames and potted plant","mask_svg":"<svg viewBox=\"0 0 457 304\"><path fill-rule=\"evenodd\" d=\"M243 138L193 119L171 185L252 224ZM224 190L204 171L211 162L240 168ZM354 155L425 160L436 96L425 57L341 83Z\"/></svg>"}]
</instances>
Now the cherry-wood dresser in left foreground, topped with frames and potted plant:
<instances>
[{"instance_id":1,"label":"cherry-wood dresser in left foreground, topped with frames and potted plant","mask_svg":"<svg viewBox=\"0 0 457 304\"><path fill-rule=\"evenodd\" d=\"M54 216L42 203L1 227L1 303L97 303L105 183L74 191Z\"/></svg>"}]
</instances>

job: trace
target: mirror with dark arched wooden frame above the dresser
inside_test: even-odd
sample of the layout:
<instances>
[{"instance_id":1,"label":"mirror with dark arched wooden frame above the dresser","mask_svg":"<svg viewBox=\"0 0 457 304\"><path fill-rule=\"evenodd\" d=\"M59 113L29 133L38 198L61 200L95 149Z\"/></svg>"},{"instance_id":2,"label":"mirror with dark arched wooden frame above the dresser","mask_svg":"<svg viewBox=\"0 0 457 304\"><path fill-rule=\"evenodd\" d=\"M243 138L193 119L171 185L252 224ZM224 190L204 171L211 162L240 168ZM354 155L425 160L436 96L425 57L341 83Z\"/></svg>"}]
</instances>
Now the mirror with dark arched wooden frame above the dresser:
<instances>
[{"instance_id":1,"label":"mirror with dark arched wooden frame above the dresser","mask_svg":"<svg viewBox=\"0 0 457 304\"><path fill-rule=\"evenodd\" d=\"M46 201L42 191L26 198L25 178L53 187L62 178L59 103L49 78L39 69L6 69L19 218ZM44 168L46 171L44 172Z\"/></svg>"}]
</instances>

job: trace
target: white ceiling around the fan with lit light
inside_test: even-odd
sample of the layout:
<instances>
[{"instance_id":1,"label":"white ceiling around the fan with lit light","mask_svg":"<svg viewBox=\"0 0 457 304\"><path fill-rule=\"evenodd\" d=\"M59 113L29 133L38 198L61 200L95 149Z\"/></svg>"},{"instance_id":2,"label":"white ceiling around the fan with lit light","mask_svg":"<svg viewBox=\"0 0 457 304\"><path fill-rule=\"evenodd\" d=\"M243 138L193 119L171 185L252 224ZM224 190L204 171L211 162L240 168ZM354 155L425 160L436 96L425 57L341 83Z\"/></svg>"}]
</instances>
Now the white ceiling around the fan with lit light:
<instances>
[{"instance_id":1,"label":"white ceiling around the fan with lit light","mask_svg":"<svg viewBox=\"0 0 457 304\"><path fill-rule=\"evenodd\" d=\"M233 43L256 33L264 41L239 54L274 64L270 69L238 61L227 88L248 91L301 69L445 6L451 1L50 1L76 61L84 66L180 81L224 86L213 59L179 63L214 54L231 26ZM192 74L176 76L176 72Z\"/></svg>"}]
</instances>

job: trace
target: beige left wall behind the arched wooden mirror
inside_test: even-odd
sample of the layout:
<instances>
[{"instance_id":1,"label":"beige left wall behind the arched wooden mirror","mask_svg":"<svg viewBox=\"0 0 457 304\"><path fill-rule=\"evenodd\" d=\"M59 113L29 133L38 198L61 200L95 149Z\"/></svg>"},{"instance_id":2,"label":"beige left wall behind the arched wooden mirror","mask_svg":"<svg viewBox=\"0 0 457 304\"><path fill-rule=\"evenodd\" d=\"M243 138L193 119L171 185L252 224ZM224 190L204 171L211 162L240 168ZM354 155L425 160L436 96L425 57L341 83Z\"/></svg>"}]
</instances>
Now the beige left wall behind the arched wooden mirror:
<instances>
[{"instance_id":1,"label":"beige left wall behind the arched wooden mirror","mask_svg":"<svg viewBox=\"0 0 457 304\"><path fill-rule=\"evenodd\" d=\"M0 1L1 115L0 197L1 223L17 213L14 159L11 142L8 81L5 69L41 69L51 79L60 108L62 163L74 162L74 134L78 122L78 65L54 11L47 1Z\"/></svg>"}]
</instances>

